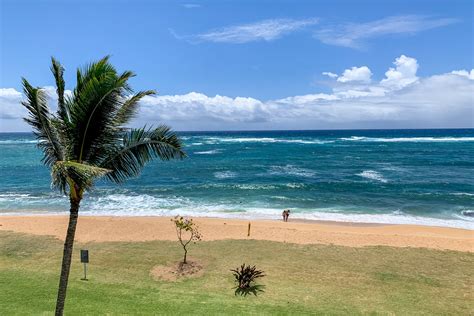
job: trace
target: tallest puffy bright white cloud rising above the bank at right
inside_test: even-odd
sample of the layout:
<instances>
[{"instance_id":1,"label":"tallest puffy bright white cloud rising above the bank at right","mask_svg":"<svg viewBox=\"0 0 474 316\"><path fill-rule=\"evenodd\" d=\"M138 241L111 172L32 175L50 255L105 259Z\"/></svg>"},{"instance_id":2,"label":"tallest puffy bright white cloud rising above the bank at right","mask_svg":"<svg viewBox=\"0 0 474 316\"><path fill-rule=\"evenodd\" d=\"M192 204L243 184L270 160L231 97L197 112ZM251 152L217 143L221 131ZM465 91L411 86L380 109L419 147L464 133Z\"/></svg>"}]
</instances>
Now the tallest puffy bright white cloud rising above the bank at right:
<instances>
[{"instance_id":1,"label":"tallest puffy bright white cloud rising above the bank at right","mask_svg":"<svg viewBox=\"0 0 474 316\"><path fill-rule=\"evenodd\" d=\"M390 68L386 73L386 78L380 84L392 89L401 89L418 81L416 72L418 71L418 62L414 58L401 55L393 64L395 68Z\"/></svg>"}]
</instances>

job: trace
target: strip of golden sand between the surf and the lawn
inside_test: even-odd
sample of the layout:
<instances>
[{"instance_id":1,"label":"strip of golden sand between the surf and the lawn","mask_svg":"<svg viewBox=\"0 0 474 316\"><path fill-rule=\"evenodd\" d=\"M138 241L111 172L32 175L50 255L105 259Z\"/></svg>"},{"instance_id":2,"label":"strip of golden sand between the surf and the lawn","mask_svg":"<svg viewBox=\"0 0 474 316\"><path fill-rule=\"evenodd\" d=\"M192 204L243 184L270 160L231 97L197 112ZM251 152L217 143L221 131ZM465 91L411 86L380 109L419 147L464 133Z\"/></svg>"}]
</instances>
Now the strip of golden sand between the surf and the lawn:
<instances>
[{"instance_id":1,"label":"strip of golden sand between the surf and the lawn","mask_svg":"<svg viewBox=\"0 0 474 316\"><path fill-rule=\"evenodd\" d=\"M256 239L350 247L423 247L474 252L474 232L417 225L195 218L203 240ZM64 238L66 216L0 216L0 230ZM169 217L79 217L80 242L175 240Z\"/></svg>"}]
</instances>

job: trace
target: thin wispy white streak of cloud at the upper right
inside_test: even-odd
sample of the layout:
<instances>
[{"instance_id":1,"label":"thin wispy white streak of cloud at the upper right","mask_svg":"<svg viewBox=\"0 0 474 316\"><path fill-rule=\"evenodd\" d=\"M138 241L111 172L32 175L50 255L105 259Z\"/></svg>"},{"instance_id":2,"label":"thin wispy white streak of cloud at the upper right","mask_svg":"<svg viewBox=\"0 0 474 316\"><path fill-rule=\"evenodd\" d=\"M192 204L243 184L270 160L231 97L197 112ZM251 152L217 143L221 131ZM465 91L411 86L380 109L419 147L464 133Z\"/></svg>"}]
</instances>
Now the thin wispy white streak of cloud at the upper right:
<instances>
[{"instance_id":1,"label":"thin wispy white streak of cloud at the upper right","mask_svg":"<svg viewBox=\"0 0 474 316\"><path fill-rule=\"evenodd\" d=\"M393 34L411 35L456 22L456 19L419 15L392 16L367 23L347 23L325 28L316 31L314 37L325 44L361 48L371 38Z\"/></svg>"}]
</instances>

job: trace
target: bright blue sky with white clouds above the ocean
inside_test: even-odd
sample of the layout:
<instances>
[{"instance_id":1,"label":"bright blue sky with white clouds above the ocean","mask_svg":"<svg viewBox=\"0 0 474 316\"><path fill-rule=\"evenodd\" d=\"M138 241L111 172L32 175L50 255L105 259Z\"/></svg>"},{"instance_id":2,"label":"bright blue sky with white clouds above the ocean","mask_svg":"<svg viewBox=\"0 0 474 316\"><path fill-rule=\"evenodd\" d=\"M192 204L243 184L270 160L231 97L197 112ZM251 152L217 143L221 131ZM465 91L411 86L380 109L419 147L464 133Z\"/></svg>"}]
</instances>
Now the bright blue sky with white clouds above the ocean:
<instances>
[{"instance_id":1,"label":"bright blue sky with white clouds above the ocean","mask_svg":"<svg viewBox=\"0 0 474 316\"><path fill-rule=\"evenodd\" d=\"M474 64L471 1L2 0L0 10L0 88L4 90L0 131L26 128L17 120L21 113L7 109L12 98L19 98L13 90L21 92L22 76L36 85L53 85L49 62L55 56L65 66L67 88L72 89L75 68L104 55L112 55L118 69L137 73L132 81L136 90L156 89L162 96L145 102L148 108L137 124L149 123L144 117L152 117L178 129L198 130L378 128L387 126L389 116L397 116L400 119L389 120L388 127L474 125L472 116L466 118L472 115L469 106L473 105L468 96L473 91L469 76ZM397 58L415 72L409 74L407 84L391 84L388 89L382 81L390 67L398 71L393 64ZM348 72L347 79L346 69L356 71ZM459 75L463 70L467 76ZM433 81L438 79L433 76L452 71L458 71L459 78L444 79L467 92L467 98L432 109L460 107L448 121L438 112L436 117L418 120L403 105L398 109L385 105L397 98L405 102L407 93L429 93L436 89ZM413 91L421 86L425 90ZM348 97L347 91L372 94L352 92ZM324 98L314 97L320 94ZM215 99L216 95L226 99ZM331 97L335 95L339 99ZM288 99L298 96L306 96L304 105L301 98ZM341 102L352 104L354 98L359 103L354 118L341 115ZM378 116L372 115L375 101L384 104ZM370 104L367 116L360 117L360 107L366 103ZM319 106L324 109L314 110ZM183 113L165 113L176 107ZM193 112L189 107L201 109ZM271 114L274 111L280 113ZM298 116L302 111L303 119Z\"/></svg>"}]
</instances>

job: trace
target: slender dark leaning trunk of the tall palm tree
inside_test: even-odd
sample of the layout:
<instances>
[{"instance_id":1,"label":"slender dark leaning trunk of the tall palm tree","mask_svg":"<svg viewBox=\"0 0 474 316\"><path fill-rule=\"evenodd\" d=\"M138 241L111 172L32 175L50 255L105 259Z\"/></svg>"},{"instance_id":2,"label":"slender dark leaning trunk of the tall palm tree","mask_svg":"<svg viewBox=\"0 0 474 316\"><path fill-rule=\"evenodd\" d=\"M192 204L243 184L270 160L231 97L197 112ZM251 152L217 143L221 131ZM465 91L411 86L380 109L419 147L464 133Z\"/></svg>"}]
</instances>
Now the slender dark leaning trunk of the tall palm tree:
<instances>
[{"instance_id":1,"label":"slender dark leaning trunk of the tall palm tree","mask_svg":"<svg viewBox=\"0 0 474 316\"><path fill-rule=\"evenodd\" d=\"M56 301L56 316L64 313L64 302L66 301L67 282L69 270L71 268L71 257L74 245L74 235L76 234L77 217L79 216L79 204L81 200L71 198L71 209L69 213L69 225L67 228L66 240L64 241L63 262L61 265L61 277L59 278L58 299Z\"/></svg>"}]
</instances>

